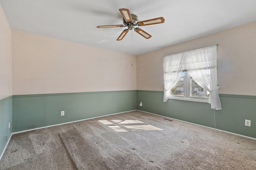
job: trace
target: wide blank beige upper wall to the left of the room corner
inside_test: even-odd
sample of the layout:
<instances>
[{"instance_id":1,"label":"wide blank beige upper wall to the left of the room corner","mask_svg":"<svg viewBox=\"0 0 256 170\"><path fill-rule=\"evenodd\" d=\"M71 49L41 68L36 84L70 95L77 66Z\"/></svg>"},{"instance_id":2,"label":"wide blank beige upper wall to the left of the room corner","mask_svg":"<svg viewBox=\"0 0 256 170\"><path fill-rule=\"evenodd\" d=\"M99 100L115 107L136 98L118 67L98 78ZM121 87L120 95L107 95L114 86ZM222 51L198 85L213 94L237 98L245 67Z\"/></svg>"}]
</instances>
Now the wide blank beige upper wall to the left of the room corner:
<instances>
[{"instance_id":1,"label":"wide blank beige upper wall to the left of the room corner","mask_svg":"<svg viewBox=\"0 0 256 170\"><path fill-rule=\"evenodd\" d=\"M136 90L136 56L22 31L12 64L14 95Z\"/></svg>"}]
</instances>

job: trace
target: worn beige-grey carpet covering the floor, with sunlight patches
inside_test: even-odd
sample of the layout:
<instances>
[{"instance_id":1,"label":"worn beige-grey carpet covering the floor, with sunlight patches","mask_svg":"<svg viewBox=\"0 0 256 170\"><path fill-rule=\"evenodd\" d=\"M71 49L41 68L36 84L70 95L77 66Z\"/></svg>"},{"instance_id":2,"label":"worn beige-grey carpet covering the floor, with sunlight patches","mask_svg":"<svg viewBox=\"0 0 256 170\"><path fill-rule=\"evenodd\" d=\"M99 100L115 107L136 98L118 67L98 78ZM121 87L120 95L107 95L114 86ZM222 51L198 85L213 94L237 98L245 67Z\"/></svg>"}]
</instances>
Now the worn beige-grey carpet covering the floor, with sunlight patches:
<instances>
[{"instance_id":1,"label":"worn beige-grey carpet covering the floor, with sunlight patches","mask_svg":"<svg viewBox=\"0 0 256 170\"><path fill-rule=\"evenodd\" d=\"M255 170L256 141L131 111L12 135L1 170Z\"/></svg>"}]
</instances>

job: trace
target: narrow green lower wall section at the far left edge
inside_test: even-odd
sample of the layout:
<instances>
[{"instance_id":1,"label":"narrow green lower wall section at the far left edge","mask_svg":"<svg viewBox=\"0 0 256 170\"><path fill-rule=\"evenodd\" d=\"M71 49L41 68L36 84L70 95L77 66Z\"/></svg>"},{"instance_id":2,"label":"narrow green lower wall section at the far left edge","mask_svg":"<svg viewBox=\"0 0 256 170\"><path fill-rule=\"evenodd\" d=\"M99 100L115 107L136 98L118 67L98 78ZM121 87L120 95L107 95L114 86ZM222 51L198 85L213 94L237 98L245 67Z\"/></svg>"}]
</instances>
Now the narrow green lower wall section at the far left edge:
<instances>
[{"instance_id":1,"label":"narrow green lower wall section at the far left edge","mask_svg":"<svg viewBox=\"0 0 256 170\"><path fill-rule=\"evenodd\" d=\"M11 123L10 129L8 123ZM0 154L12 134L12 96L0 100Z\"/></svg>"}]
</instances>

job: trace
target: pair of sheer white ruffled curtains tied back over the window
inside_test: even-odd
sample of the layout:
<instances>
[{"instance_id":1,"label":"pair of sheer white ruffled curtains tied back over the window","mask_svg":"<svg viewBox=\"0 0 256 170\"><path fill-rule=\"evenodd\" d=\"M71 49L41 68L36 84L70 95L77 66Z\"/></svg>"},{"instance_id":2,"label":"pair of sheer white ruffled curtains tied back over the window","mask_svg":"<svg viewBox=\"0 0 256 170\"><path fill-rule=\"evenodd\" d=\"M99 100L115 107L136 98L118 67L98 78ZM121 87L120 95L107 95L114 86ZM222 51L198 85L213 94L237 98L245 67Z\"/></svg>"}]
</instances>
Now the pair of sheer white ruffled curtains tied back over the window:
<instances>
[{"instance_id":1,"label":"pair of sheer white ruffled curtains tied back over the window","mask_svg":"<svg viewBox=\"0 0 256 170\"><path fill-rule=\"evenodd\" d=\"M171 67L172 65L178 65L176 60L174 60L177 58L177 56L180 56L178 57L180 58L179 66L176 67L176 70L171 70L168 72L168 67ZM168 96L170 95L170 89L176 85L176 83L178 82L177 79L179 78L180 73L184 69L187 70L188 74L190 74L190 76L196 81L199 86L210 92L209 104L211 104L211 108L220 110L221 104L218 94L218 88L220 88L220 86L218 86L217 82L217 58L217 45L164 57L164 102L168 100ZM181 72L180 69L182 69ZM176 71L179 72L179 75L177 79L174 79L172 77L176 77ZM170 75L167 76L166 74ZM169 77L172 79L168 79ZM170 83L170 81L173 81L173 83ZM174 85L166 86L168 84Z\"/></svg>"}]
</instances>

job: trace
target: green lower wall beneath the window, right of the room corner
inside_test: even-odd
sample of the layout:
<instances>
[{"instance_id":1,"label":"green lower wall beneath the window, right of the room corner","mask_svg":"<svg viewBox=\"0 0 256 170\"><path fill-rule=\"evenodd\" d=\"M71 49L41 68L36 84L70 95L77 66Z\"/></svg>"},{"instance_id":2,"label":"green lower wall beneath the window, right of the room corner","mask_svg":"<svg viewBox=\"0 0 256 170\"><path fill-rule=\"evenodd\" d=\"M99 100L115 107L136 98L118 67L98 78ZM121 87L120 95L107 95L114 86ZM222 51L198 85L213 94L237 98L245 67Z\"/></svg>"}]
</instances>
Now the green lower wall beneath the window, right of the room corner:
<instances>
[{"instance_id":1,"label":"green lower wall beneath the window, right of the room corner","mask_svg":"<svg viewBox=\"0 0 256 170\"><path fill-rule=\"evenodd\" d=\"M210 104L171 100L163 102L164 92L137 90L137 109L214 128ZM142 107L139 103L142 102ZM221 110L215 110L216 128L256 138L256 96L220 94ZM251 120L251 127L245 126Z\"/></svg>"}]
</instances>

